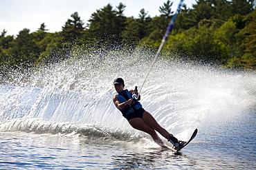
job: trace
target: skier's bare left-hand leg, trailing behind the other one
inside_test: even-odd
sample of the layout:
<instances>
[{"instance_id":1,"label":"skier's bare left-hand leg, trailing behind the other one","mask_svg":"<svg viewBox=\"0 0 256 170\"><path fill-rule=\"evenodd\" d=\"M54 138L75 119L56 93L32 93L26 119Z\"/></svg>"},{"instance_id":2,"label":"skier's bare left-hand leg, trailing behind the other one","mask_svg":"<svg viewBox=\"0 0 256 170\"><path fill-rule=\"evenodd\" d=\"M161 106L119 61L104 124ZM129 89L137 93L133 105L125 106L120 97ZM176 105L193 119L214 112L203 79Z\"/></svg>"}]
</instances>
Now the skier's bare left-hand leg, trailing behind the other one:
<instances>
[{"instance_id":1,"label":"skier's bare left-hand leg, trailing behind the other one","mask_svg":"<svg viewBox=\"0 0 256 170\"><path fill-rule=\"evenodd\" d=\"M129 124L131 125L131 127L134 127L134 129L145 131L147 134L152 136L153 140L161 147L166 147L163 144L163 140L161 140L161 138L159 138L159 136L156 134L156 131L154 131L152 127L145 123L142 118L132 118L131 120L129 120Z\"/></svg>"}]
</instances>

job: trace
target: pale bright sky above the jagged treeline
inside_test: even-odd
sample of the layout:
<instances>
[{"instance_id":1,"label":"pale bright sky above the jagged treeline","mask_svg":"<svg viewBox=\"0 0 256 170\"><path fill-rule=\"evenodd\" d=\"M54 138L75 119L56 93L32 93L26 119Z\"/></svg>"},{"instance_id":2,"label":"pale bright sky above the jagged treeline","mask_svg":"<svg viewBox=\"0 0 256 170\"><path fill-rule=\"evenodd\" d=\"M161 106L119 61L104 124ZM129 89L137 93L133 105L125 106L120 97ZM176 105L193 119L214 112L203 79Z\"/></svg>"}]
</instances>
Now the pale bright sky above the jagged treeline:
<instances>
[{"instance_id":1,"label":"pale bright sky above the jagged treeline","mask_svg":"<svg viewBox=\"0 0 256 170\"><path fill-rule=\"evenodd\" d=\"M171 0L172 11L176 11L179 1ZM42 23L48 32L60 32L74 12L78 12L85 26L93 12L108 3L116 9L120 2L126 6L126 17L138 18L142 8L150 17L159 16L159 7L167 0L0 0L0 32L4 29L7 30L6 36L17 36L19 31L27 28L31 33L37 31ZM185 0L184 3L191 8L196 0Z\"/></svg>"}]
</instances>

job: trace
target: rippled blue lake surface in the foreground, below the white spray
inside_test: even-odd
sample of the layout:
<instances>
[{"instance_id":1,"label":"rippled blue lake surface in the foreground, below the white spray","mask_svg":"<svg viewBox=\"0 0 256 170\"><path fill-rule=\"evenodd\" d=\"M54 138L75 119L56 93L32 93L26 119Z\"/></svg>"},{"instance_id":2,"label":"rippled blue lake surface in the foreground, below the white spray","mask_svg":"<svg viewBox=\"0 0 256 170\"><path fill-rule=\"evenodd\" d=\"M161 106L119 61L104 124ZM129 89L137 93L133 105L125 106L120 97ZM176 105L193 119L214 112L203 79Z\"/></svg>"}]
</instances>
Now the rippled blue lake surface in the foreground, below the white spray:
<instances>
[{"instance_id":1,"label":"rippled blue lake surface in the foreground, below the white spray","mask_svg":"<svg viewBox=\"0 0 256 170\"><path fill-rule=\"evenodd\" d=\"M255 169L255 114L199 129L175 153L149 138L0 133L1 169ZM241 122L241 119L242 122ZM129 139L128 139L129 140Z\"/></svg>"}]
</instances>

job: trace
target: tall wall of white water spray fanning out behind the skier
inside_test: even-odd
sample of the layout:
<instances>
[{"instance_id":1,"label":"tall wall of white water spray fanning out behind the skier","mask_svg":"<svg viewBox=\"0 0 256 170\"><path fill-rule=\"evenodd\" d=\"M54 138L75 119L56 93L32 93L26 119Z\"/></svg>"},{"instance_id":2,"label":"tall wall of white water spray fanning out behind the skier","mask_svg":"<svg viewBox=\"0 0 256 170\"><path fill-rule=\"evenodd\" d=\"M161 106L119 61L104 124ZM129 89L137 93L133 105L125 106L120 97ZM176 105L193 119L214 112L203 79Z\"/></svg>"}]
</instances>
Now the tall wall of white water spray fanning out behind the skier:
<instances>
[{"instance_id":1,"label":"tall wall of white water spray fanning out behind the skier","mask_svg":"<svg viewBox=\"0 0 256 170\"><path fill-rule=\"evenodd\" d=\"M35 118L45 124L42 127L69 123L140 134L113 105L112 84L114 78L122 77L127 88L137 85L140 91L153 57L143 51L112 52L103 57L81 54L81 59L42 67L22 80L14 75L17 78L12 86L0 85L0 121ZM187 138L194 128L209 121L255 109L255 89L255 73L160 60L140 95L143 107L158 123L170 133ZM3 129L3 125L0 127Z\"/></svg>"}]
</instances>

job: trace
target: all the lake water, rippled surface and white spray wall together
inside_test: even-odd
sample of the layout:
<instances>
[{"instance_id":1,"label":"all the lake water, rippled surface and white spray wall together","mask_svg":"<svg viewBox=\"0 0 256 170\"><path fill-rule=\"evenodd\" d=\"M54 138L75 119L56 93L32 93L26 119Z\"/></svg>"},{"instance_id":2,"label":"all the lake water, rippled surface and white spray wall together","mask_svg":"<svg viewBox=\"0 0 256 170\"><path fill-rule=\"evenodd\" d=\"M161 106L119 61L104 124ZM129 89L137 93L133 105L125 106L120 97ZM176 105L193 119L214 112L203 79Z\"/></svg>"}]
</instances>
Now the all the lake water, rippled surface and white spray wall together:
<instances>
[{"instance_id":1,"label":"all the lake water, rippled surface and white spray wall together","mask_svg":"<svg viewBox=\"0 0 256 170\"><path fill-rule=\"evenodd\" d=\"M151 55L95 54L14 73L0 85L0 169L256 169L255 72L154 65L143 107L180 140L199 129L175 153L132 129L111 100L118 76L140 89Z\"/></svg>"}]
</instances>

